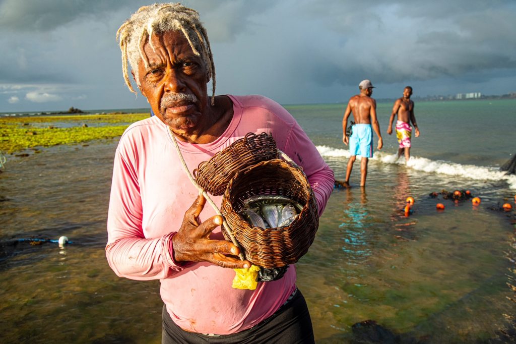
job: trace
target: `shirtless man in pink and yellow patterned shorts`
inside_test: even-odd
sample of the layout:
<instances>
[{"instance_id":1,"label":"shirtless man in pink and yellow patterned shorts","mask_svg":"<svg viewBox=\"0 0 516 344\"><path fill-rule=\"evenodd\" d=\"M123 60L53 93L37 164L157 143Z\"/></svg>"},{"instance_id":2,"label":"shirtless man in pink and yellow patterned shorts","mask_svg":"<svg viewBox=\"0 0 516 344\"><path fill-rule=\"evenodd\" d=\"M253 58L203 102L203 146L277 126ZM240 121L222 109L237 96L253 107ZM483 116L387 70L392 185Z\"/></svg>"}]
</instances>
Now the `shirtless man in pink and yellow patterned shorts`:
<instances>
[{"instance_id":1,"label":"shirtless man in pink and yellow patterned shorts","mask_svg":"<svg viewBox=\"0 0 516 344\"><path fill-rule=\"evenodd\" d=\"M412 127L410 126L411 121L415 128L415 136L418 137L420 134L419 129L417 128L416 118L414 116L414 102L410 100L410 96L412 96L412 87L407 86L403 90L403 97L394 102L391 119L389 120L389 128L387 128L387 133L391 135L394 117L398 115L398 120L396 121L396 137L399 142L398 159L405 151L406 162L410 159L410 138L412 136Z\"/></svg>"}]
</instances>

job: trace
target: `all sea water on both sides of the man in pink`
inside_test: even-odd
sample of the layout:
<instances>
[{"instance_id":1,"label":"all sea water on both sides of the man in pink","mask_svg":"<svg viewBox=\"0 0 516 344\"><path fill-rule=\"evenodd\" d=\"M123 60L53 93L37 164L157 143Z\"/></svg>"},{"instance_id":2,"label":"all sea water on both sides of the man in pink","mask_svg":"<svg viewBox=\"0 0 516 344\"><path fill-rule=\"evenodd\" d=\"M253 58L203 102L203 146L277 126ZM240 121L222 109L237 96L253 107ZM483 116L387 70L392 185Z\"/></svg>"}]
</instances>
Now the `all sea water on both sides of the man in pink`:
<instances>
[{"instance_id":1,"label":"all sea water on both sides of the man in pink","mask_svg":"<svg viewBox=\"0 0 516 344\"><path fill-rule=\"evenodd\" d=\"M513 204L516 188L498 167L516 153L516 101L416 102L421 136L408 164L395 161L396 138L386 135L391 106L378 104L385 148L369 162L365 189L357 161L352 187L334 190L296 264L316 341L363 339L353 328L372 320L384 336L407 342L508 342L516 218L499 207ZM286 106L337 179L349 157L344 107ZM0 174L2 343L160 342L159 282L119 278L105 258L116 144L9 157ZM455 189L481 197L480 206L429 196ZM407 217L408 196L415 204ZM62 235L73 244L6 244Z\"/></svg>"}]
</instances>

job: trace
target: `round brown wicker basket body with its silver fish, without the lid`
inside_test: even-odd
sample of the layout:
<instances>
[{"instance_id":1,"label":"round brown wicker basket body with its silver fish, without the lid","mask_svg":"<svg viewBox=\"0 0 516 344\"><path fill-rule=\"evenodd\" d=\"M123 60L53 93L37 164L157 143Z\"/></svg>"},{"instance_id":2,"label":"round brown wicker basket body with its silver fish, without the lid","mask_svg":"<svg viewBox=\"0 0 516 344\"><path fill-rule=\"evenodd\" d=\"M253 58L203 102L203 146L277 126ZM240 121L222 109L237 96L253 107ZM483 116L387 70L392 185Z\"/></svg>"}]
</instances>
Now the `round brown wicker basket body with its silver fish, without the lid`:
<instances>
[{"instance_id":1,"label":"round brown wicker basket body with its silver fish, without the lid","mask_svg":"<svg viewBox=\"0 0 516 344\"><path fill-rule=\"evenodd\" d=\"M261 268L260 280L276 280L312 244L319 225L317 202L300 168L280 159L238 171L220 209L244 255Z\"/></svg>"}]
</instances>

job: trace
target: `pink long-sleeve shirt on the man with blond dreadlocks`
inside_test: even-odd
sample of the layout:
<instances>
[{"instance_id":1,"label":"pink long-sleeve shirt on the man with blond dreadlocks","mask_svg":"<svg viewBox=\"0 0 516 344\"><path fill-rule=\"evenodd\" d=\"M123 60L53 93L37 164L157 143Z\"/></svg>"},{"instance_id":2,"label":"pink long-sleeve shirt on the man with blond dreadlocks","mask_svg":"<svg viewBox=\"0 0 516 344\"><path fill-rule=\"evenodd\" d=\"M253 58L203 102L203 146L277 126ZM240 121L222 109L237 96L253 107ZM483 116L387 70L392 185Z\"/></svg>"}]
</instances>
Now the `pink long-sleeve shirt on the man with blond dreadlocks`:
<instances>
[{"instance_id":1,"label":"pink long-sleeve shirt on the man with blond dreadlocks","mask_svg":"<svg viewBox=\"0 0 516 344\"><path fill-rule=\"evenodd\" d=\"M234 115L219 138L209 144L178 140L188 169L193 171L249 132L266 132L280 150L303 167L322 214L333 190L333 171L296 120L268 98L229 97ZM233 269L207 262L178 264L173 259L172 236L197 196L168 127L156 116L133 123L120 138L115 154L107 260L118 276L160 279L167 310L184 330L214 334L246 330L271 316L294 291L295 268L291 265L279 280L259 283L256 290L240 290L231 287ZM222 196L212 199L220 207ZM200 220L213 215L215 211L206 204ZM220 227L211 238L224 240Z\"/></svg>"}]
</instances>

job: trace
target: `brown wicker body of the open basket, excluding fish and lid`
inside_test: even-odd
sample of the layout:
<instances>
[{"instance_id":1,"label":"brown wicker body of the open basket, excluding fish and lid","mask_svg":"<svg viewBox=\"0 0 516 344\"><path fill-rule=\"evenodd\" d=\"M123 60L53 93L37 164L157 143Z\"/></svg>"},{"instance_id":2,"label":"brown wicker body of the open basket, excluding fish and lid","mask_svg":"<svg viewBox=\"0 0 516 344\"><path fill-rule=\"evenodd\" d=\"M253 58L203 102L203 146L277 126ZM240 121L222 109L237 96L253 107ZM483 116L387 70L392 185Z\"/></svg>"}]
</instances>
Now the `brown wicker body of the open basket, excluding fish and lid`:
<instances>
[{"instance_id":1,"label":"brown wicker body of the open basket, excluding fish and lid","mask_svg":"<svg viewBox=\"0 0 516 344\"><path fill-rule=\"evenodd\" d=\"M290 225L263 229L253 227L238 214L244 200L251 196L282 195L303 206L299 216ZM264 161L240 170L229 182L220 209L244 255L262 268L285 267L299 260L312 244L319 217L317 202L303 172L283 160Z\"/></svg>"}]
</instances>

